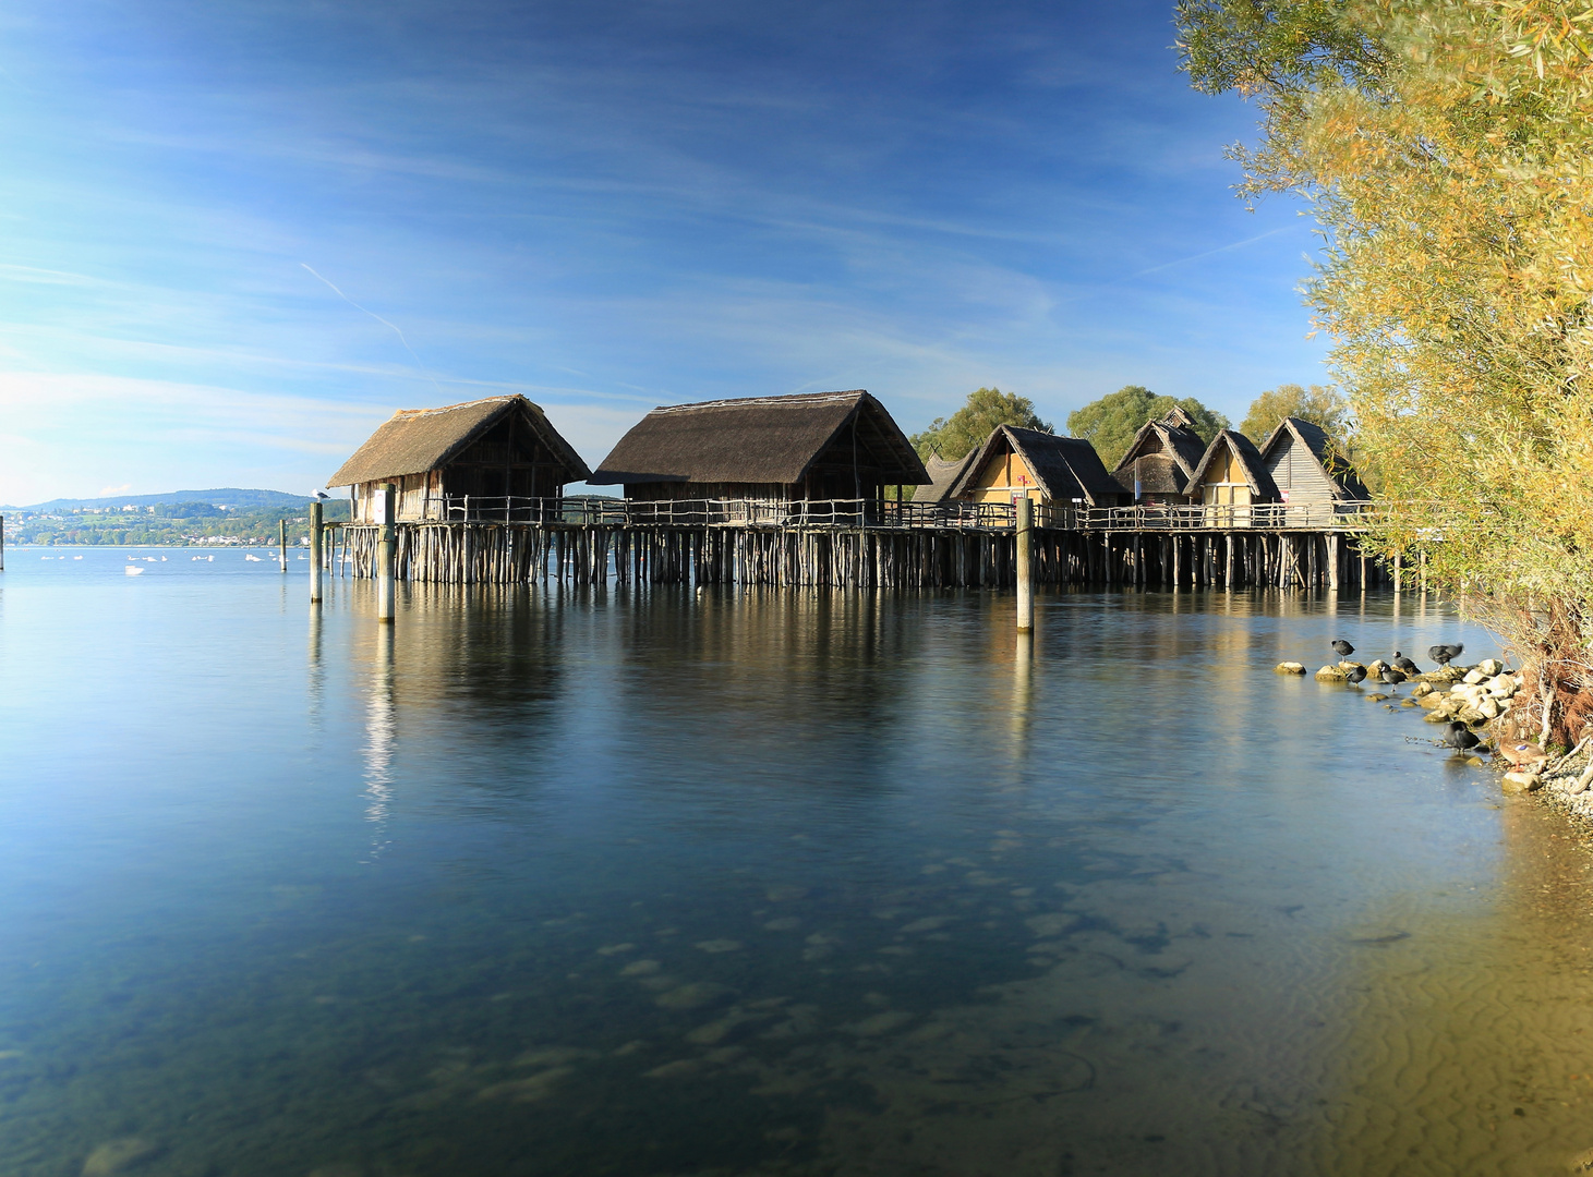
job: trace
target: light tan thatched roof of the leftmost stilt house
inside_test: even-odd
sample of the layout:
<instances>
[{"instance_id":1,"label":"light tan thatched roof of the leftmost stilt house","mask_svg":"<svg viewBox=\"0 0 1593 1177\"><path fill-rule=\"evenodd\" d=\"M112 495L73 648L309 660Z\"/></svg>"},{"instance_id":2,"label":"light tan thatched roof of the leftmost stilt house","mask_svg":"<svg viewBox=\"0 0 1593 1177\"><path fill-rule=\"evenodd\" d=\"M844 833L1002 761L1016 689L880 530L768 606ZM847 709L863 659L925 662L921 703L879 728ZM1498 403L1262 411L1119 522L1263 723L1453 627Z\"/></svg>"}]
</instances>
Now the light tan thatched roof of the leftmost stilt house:
<instances>
[{"instance_id":1,"label":"light tan thatched roof of the leftmost stilt house","mask_svg":"<svg viewBox=\"0 0 1593 1177\"><path fill-rule=\"evenodd\" d=\"M581 456L553 428L546 414L524 397L515 395L444 405L440 409L398 409L327 479L327 486L354 486L436 470L511 413L519 413L537 438L564 463L562 481L573 483L591 473Z\"/></svg>"}]
</instances>

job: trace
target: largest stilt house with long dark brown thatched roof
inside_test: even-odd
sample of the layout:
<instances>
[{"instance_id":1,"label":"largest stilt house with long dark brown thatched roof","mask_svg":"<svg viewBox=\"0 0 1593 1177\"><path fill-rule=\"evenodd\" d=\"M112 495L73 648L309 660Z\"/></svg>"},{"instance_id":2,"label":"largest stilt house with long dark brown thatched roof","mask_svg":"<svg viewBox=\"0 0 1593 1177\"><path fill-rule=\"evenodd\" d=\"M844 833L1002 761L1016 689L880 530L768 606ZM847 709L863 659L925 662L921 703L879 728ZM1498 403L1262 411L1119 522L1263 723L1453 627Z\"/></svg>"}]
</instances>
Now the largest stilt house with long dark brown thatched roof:
<instances>
[{"instance_id":1,"label":"largest stilt house with long dark brown thatched roof","mask_svg":"<svg viewBox=\"0 0 1593 1177\"><path fill-rule=\"evenodd\" d=\"M927 481L906 435L862 390L656 408L591 476L640 502L878 502L887 486Z\"/></svg>"}]
</instances>

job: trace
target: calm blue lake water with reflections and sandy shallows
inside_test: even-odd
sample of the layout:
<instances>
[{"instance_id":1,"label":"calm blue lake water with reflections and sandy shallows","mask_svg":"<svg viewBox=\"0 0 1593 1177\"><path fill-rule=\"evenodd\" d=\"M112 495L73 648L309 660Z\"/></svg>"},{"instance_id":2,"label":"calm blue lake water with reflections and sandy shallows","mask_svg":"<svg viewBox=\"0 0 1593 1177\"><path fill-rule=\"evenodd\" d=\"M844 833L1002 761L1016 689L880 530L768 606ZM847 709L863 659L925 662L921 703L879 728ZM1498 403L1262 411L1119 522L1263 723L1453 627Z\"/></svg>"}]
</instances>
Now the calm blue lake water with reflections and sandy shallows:
<instances>
[{"instance_id":1,"label":"calm blue lake water with reflections and sandy shallows","mask_svg":"<svg viewBox=\"0 0 1593 1177\"><path fill-rule=\"evenodd\" d=\"M999 592L416 588L384 635L303 561L62 551L0 575L3 1174L1593 1148L1588 852L1271 672L1494 653L1437 602L1053 592L1031 647Z\"/></svg>"}]
</instances>

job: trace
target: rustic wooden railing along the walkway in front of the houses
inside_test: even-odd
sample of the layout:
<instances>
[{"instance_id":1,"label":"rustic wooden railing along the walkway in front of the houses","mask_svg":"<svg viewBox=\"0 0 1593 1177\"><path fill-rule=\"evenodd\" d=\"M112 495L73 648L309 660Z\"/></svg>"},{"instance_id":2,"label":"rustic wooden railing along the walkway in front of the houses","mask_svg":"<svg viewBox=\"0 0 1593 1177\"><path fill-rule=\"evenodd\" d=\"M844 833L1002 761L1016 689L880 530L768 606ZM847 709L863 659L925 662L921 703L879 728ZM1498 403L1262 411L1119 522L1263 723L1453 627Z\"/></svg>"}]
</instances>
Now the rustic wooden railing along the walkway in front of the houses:
<instances>
[{"instance_id":1,"label":"rustic wooden railing along the walkway in front of the houses","mask_svg":"<svg viewBox=\"0 0 1593 1177\"><path fill-rule=\"evenodd\" d=\"M918 503L875 499L661 499L639 502L575 495L524 499L465 495L432 503L430 522L521 522L577 527L811 527L1005 532L1010 503ZM1083 532L1337 530L1364 527L1373 503L1257 503L1252 506L1063 506L1039 505L1042 529ZM416 521L419 522L419 521Z\"/></svg>"}]
</instances>

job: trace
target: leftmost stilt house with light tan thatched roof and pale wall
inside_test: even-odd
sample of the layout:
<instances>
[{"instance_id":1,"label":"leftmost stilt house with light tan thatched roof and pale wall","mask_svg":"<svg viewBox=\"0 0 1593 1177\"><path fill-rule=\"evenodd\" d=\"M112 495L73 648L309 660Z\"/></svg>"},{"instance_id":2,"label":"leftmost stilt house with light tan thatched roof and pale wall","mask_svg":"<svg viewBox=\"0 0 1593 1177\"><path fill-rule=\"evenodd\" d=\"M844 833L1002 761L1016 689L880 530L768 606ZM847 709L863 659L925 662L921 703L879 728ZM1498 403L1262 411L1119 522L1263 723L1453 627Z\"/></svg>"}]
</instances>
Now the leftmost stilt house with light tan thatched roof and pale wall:
<instances>
[{"instance_id":1,"label":"leftmost stilt house with light tan thatched roof and pale wall","mask_svg":"<svg viewBox=\"0 0 1593 1177\"><path fill-rule=\"evenodd\" d=\"M591 471L524 397L400 409L327 486L347 486L354 522L374 522L376 487L392 483L397 518L537 521L564 484Z\"/></svg>"}]
</instances>

